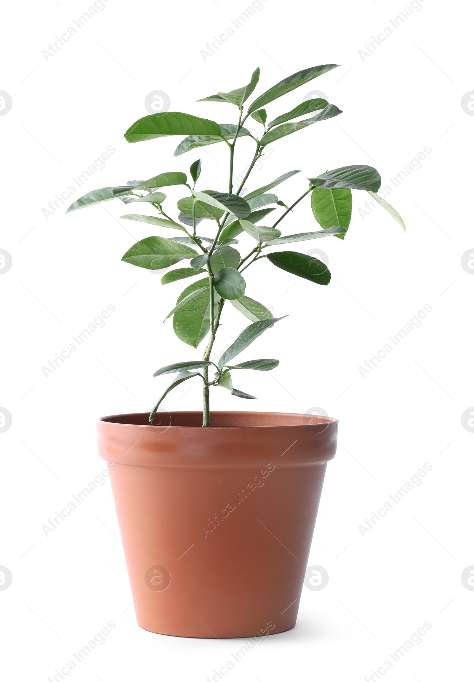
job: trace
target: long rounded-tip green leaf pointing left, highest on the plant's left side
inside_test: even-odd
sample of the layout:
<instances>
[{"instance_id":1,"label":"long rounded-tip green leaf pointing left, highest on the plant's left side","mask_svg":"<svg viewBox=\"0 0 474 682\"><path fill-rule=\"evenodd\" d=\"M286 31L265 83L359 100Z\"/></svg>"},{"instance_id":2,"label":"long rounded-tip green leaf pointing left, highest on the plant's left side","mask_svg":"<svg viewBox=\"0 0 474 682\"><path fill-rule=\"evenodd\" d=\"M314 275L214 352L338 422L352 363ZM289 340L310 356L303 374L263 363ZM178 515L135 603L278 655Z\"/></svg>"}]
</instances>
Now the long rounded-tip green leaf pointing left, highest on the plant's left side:
<instances>
[{"instance_id":1,"label":"long rounded-tip green leaf pointing left, highest on the plant's left side","mask_svg":"<svg viewBox=\"0 0 474 682\"><path fill-rule=\"evenodd\" d=\"M219 135L221 128L215 121L200 119L180 111L163 111L135 121L125 133L127 142L144 142L168 135Z\"/></svg>"}]
</instances>

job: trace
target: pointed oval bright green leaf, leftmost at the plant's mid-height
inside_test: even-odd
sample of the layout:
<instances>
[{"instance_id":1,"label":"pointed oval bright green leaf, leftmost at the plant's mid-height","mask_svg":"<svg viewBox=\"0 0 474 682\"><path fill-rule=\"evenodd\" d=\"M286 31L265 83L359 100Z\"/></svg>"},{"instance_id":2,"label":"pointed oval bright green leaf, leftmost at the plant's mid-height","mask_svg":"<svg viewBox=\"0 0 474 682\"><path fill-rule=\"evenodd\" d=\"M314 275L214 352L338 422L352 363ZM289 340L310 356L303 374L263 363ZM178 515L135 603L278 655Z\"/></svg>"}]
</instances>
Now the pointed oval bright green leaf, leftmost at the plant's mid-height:
<instances>
[{"instance_id":1,"label":"pointed oval bright green leaf, leftmost at the plant's mid-height","mask_svg":"<svg viewBox=\"0 0 474 682\"><path fill-rule=\"evenodd\" d=\"M122 261L147 270L161 270L191 256L197 256L197 253L185 244L164 237L146 237L133 244L122 256Z\"/></svg>"}]
</instances>

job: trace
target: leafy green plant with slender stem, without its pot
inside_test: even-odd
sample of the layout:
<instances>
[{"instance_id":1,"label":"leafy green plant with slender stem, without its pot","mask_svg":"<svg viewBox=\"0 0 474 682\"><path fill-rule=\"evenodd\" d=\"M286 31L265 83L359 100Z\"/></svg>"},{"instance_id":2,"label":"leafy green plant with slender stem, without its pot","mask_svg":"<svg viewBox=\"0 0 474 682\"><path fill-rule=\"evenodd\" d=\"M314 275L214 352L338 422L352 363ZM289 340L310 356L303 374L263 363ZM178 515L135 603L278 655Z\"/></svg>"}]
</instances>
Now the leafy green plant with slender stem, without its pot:
<instances>
[{"instance_id":1,"label":"leafy green plant with slender stem, without its pot","mask_svg":"<svg viewBox=\"0 0 474 682\"><path fill-rule=\"evenodd\" d=\"M185 136L180 141L174 156L180 156L199 147L224 143L229 148L229 180L227 192L215 190L197 190L200 179L201 160L195 160L189 168L191 179L186 173L173 171L160 173L146 181L129 181L127 185L106 187L94 190L74 202L69 211L93 206L97 203L121 199L125 204L138 207L138 204L150 207L155 211L153 216L142 213L128 213L122 218L138 220L151 224L164 234L167 231L182 233L177 237L146 237L141 239L122 257L125 263L149 270L166 269L161 284L171 284L177 280L204 277L194 280L180 293L176 306L166 316L173 318L173 327L178 338L197 348L207 339L206 349L200 360L183 361L160 368L153 376L176 374L172 383L165 389L150 413L150 421L155 417L163 398L184 381L196 377L203 384L203 426L210 426L210 387L220 386L228 389L238 398L250 396L244 391L234 388L233 377L237 370L251 369L268 371L275 368L276 359L256 359L234 363L234 358L257 339L266 329L279 322L282 317L273 317L262 303L246 295L244 271L262 258L272 265L304 278L314 284L327 285L330 282L330 271L317 258L296 251L286 250L287 244L298 243L329 237L333 235L344 239L349 228L352 209L351 190L365 190L378 201L400 223L398 215L377 191L381 178L371 166L344 166L325 173L309 177L309 183L303 187L301 196L291 206L280 201L272 192L289 177L300 173L289 170L263 187L246 192L242 196L244 183L247 181L253 166L266 153L270 143L307 128L313 123L325 121L341 114L341 110L326 100L314 98L298 104L287 113L280 114L267 122L266 106L286 93L309 83L313 78L321 76L336 68L336 64L326 64L305 69L288 76L270 87L247 107L244 105L257 87L259 69L251 76L250 83L230 92L219 92L210 95L200 102L216 102L234 104L238 109L237 123L215 123L208 119L180 112L163 112L145 116L131 125L125 132L129 143L144 142L170 135ZM309 118L302 118L311 115ZM252 119L256 132L244 127L248 119ZM251 123L251 121L249 121ZM247 125L249 125L247 123ZM250 127L250 126L249 126ZM238 140L242 137L252 138L255 142L255 153L247 170L247 174L239 186L234 186L234 152ZM187 188L187 196L178 201L178 215L172 218L168 207L163 208L166 195L161 191L165 187L182 185ZM281 221L311 194L311 211L322 229L302 232L296 235L281 235L278 226ZM276 214L273 211L277 211ZM275 218L275 215L278 215ZM268 225L262 225L265 221ZM164 229L163 229L164 228ZM254 246L244 254L238 250L240 235L247 233L253 239ZM283 250L281 246L285 246ZM180 261L189 261L188 267L170 269ZM251 320L251 324L240 333L234 343L223 353L219 361L210 361L212 346L219 329L223 306L230 301L235 308Z\"/></svg>"}]
</instances>

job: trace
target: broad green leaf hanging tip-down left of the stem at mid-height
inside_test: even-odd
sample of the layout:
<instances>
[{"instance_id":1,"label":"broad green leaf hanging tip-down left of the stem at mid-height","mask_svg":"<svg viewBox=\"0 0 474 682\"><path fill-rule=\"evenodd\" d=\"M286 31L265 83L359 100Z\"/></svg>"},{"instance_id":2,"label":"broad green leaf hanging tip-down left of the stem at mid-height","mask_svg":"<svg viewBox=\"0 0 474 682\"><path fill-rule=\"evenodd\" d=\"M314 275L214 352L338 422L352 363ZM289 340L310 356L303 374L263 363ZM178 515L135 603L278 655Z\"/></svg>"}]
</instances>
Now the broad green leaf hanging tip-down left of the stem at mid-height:
<instances>
[{"instance_id":1,"label":"broad green leaf hanging tip-down left of the stem at mid-height","mask_svg":"<svg viewBox=\"0 0 474 682\"><path fill-rule=\"evenodd\" d=\"M187 286L185 290L180 293L177 303L180 303L187 295L196 289L206 286L204 291L193 298L191 301L187 301L185 306L174 313L173 316L173 329L176 336L188 344L197 348L200 342L209 333L210 325L210 295L209 295L209 280L204 278L193 282L190 286ZM221 300L219 294L215 292L214 301L215 306Z\"/></svg>"}]
</instances>

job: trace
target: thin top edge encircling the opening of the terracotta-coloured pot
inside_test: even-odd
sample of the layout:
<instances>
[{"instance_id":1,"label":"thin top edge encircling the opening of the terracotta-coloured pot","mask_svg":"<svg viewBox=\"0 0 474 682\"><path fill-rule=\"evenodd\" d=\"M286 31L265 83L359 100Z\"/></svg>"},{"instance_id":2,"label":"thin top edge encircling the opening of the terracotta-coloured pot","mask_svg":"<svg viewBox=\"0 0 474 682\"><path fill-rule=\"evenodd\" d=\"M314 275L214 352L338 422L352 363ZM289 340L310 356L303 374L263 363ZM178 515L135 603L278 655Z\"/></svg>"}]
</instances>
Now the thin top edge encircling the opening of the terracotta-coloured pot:
<instances>
[{"instance_id":1,"label":"thin top edge encircling the opening of the terracotta-coloured pot","mask_svg":"<svg viewBox=\"0 0 474 682\"><path fill-rule=\"evenodd\" d=\"M164 411L170 417L172 415L202 415L202 410L174 410L172 412L168 412L168 410ZM163 413L160 413L163 414ZM118 415L106 415L104 417L99 417L97 419L97 422L104 422L106 424L117 424L120 426L133 426L134 428L146 428L146 429L151 429L153 428L153 421L152 422L146 422L146 424L133 424L130 423L129 421L117 421L118 419L121 418L127 418L127 417L136 417L137 415L146 415L148 417L149 412L130 412L130 413L123 413L123 414L118 414ZM301 417L301 421L294 421L293 423L288 422L287 424L236 424L234 426L182 426L176 424L175 426L167 426L168 429L198 429L202 430L203 428L209 428L212 430L225 430L225 429L230 429L230 428L241 428L241 429L265 429L265 428L288 428L288 427L295 427L295 426L316 426L317 424L338 424L339 420L336 419L336 417L329 417L329 416L323 416L323 415L310 415L306 413L298 413L298 412L262 412L262 411L251 411L251 410L211 410L210 411L210 417L212 421L212 415L275 415L275 417Z\"/></svg>"}]
</instances>

